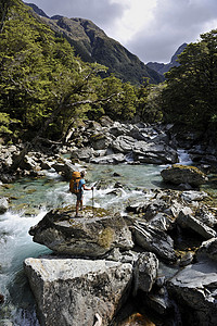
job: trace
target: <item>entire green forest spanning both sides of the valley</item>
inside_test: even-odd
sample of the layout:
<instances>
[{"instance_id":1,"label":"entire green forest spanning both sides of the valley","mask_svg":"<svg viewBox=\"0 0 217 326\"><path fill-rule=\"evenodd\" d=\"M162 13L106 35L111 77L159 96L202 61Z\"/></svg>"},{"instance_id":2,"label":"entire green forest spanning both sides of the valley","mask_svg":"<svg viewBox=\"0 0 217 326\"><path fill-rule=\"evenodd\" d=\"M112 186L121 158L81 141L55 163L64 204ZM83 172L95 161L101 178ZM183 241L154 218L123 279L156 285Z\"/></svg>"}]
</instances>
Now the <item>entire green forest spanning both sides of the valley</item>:
<instances>
[{"instance_id":1,"label":"entire green forest spanning both sides of the valley","mask_svg":"<svg viewBox=\"0 0 217 326\"><path fill-rule=\"evenodd\" d=\"M179 55L166 82L140 86L84 62L21 0L0 3L0 136L5 141L46 137L64 141L85 118L217 127L217 30L201 35Z\"/></svg>"}]
</instances>

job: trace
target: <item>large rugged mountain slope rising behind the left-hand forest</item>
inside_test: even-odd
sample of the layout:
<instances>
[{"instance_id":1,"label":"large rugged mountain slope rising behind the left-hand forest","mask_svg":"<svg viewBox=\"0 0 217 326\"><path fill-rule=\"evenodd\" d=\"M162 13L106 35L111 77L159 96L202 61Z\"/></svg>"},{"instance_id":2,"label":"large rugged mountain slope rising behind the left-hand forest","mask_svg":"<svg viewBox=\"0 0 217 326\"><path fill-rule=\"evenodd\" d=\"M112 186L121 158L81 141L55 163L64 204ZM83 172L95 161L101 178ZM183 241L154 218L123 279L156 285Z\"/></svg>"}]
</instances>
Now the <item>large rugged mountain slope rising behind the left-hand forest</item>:
<instances>
[{"instance_id":1,"label":"large rugged mountain slope rising behind the left-hand forest","mask_svg":"<svg viewBox=\"0 0 217 326\"><path fill-rule=\"evenodd\" d=\"M149 78L151 84L164 80L161 74L146 66L118 41L107 37L91 21L60 15L48 17L37 5L26 4L39 14L56 34L62 34L74 47L75 53L85 62L98 62L105 65L108 74L114 74L123 82L130 82L133 85L142 84L144 78Z\"/></svg>"}]
</instances>

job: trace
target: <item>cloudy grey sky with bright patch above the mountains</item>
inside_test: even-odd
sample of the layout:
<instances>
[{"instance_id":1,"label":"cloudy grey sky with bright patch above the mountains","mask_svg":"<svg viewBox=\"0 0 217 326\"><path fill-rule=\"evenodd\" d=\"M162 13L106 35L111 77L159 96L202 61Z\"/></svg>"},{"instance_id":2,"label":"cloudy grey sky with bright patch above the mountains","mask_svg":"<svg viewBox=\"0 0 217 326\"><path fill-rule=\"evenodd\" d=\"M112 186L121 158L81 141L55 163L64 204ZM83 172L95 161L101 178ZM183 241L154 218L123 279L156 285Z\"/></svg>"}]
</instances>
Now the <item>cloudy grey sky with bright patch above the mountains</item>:
<instances>
[{"instance_id":1,"label":"cloudy grey sky with bright patch above the mountains","mask_svg":"<svg viewBox=\"0 0 217 326\"><path fill-rule=\"evenodd\" d=\"M144 63L169 62L183 42L217 28L217 0L25 0L49 16L91 20Z\"/></svg>"}]
</instances>

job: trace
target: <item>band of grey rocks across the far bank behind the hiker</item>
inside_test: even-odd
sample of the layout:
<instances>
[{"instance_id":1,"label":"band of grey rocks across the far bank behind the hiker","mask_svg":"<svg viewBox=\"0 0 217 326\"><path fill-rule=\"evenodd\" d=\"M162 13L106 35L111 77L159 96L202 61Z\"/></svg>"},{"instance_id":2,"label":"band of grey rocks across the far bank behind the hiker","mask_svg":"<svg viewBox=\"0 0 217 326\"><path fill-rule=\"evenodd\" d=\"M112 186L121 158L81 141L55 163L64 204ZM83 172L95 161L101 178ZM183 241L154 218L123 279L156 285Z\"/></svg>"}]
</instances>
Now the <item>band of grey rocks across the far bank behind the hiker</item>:
<instances>
[{"instance_id":1,"label":"band of grey rocks across the far bank behind the hiker","mask_svg":"<svg viewBox=\"0 0 217 326\"><path fill-rule=\"evenodd\" d=\"M186 137L184 137L186 136ZM179 149L187 149L193 164L201 170L217 170L217 147L196 134L180 134L173 125L149 125L113 122L104 117L100 123L87 121L72 129L67 142L50 143L46 139L34 143L0 146L0 180L40 176L41 170L55 168L69 178L63 154L72 162L94 164L175 164ZM63 167L64 165L64 167Z\"/></svg>"}]
</instances>

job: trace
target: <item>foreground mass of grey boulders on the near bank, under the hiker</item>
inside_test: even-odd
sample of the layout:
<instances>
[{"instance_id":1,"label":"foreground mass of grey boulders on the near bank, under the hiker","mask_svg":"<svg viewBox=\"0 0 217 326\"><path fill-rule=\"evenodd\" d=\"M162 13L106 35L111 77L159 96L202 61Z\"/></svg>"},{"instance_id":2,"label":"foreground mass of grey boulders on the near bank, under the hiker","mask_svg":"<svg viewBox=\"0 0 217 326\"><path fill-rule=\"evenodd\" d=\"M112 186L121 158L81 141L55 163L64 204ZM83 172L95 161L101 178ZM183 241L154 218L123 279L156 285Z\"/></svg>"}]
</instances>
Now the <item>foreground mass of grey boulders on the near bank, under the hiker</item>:
<instances>
[{"instance_id":1,"label":"foreground mass of grey boulders on the near bank, under the hiker","mask_svg":"<svg viewBox=\"0 0 217 326\"><path fill-rule=\"evenodd\" d=\"M122 215L50 211L29 234L53 253L24 262L40 325L120 325L135 302L166 325L216 325L216 230L197 190L146 190Z\"/></svg>"}]
</instances>

